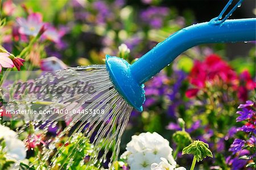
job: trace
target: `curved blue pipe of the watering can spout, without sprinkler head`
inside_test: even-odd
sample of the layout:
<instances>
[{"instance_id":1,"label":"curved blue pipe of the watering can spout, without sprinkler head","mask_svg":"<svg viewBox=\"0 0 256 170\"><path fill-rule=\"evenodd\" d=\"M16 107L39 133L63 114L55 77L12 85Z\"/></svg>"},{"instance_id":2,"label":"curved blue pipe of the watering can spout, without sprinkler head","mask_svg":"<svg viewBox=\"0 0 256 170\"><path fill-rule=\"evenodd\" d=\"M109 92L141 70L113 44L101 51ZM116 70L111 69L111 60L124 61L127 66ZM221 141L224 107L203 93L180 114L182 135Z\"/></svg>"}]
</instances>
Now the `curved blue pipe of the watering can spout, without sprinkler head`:
<instances>
[{"instance_id":1,"label":"curved blue pipe of the watering can spout, without sprinkler head","mask_svg":"<svg viewBox=\"0 0 256 170\"><path fill-rule=\"evenodd\" d=\"M134 62L130 67L131 74L142 84L193 46L256 40L255 27L256 18L226 20L221 24L211 21L183 28Z\"/></svg>"}]
</instances>

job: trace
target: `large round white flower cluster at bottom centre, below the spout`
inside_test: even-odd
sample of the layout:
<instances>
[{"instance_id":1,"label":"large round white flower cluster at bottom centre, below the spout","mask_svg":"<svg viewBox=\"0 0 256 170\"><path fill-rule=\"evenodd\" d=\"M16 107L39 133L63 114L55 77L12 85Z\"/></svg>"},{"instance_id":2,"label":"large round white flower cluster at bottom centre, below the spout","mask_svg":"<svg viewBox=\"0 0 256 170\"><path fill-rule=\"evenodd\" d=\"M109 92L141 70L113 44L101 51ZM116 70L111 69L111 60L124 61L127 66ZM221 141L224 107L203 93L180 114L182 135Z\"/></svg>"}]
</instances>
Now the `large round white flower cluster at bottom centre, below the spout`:
<instances>
[{"instance_id":1,"label":"large round white flower cluster at bottom centre, below the spout","mask_svg":"<svg viewBox=\"0 0 256 170\"><path fill-rule=\"evenodd\" d=\"M169 142L155 132L133 135L126 150L121 158L127 159L131 170L150 169L152 163L161 162L160 158L165 158L171 165L176 166Z\"/></svg>"}]
</instances>

